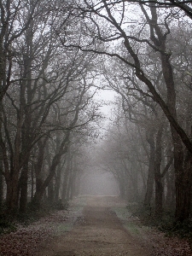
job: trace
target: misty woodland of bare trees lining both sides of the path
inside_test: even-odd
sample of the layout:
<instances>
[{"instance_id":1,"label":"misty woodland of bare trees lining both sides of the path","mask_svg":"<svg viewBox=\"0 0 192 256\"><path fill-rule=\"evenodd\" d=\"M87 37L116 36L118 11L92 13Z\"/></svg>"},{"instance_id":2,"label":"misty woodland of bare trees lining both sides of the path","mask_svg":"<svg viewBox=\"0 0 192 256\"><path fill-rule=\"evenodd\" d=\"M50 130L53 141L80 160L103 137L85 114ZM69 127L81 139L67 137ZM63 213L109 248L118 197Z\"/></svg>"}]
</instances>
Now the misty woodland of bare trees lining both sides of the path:
<instances>
[{"instance_id":1,"label":"misty woodland of bare trees lining both sides of the path","mask_svg":"<svg viewBox=\"0 0 192 256\"><path fill-rule=\"evenodd\" d=\"M121 198L189 221L191 1L3 0L0 11L1 223L79 195L98 139L95 165ZM117 95L107 125L103 90Z\"/></svg>"}]
</instances>

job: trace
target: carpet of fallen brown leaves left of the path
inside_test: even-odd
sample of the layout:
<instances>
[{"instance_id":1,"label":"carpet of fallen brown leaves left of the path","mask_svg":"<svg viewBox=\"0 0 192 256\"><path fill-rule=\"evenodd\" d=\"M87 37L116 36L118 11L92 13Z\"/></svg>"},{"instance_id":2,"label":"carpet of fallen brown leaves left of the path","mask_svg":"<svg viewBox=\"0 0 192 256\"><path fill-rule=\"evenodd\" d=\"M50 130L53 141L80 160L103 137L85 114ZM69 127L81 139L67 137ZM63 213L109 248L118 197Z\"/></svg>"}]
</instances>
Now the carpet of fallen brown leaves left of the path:
<instances>
[{"instance_id":1,"label":"carpet of fallen brown leaves left of the path","mask_svg":"<svg viewBox=\"0 0 192 256\"><path fill-rule=\"evenodd\" d=\"M57 226L68 221L68 212L59 211L27 227L18 226L16 232L0 237L0 255L31 256L44 242L56 236Z\"/></svg>"}]
</instances>

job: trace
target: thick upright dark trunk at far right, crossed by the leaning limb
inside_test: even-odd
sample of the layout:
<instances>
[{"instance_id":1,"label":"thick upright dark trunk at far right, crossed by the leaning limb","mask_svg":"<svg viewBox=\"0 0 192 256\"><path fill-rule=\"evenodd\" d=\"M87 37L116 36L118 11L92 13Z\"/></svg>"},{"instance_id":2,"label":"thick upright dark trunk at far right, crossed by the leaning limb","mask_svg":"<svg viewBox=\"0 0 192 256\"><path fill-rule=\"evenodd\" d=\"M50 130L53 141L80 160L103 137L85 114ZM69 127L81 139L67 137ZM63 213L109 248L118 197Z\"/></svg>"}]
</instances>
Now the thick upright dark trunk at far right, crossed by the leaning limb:
<instances>
[{"instance_id":1,"label":"thick upright dark trunk at far right, crossed by the leaning limb","mask_svg":"<svg viewBox=\"0 0 192 256\"><path fill-rule=\"evenodd\" d=\"M160 57L162 64L163 77L166 83L166 96L167 96L167 107L172 115L172 118L177 123L177 112L176 112L176 90L174 83L174 76L172 71L172 65L170 62L170 55L166 55L166 36L160 29L157 20L156 9L154 8L155 3L151 3L151 15L153 24L151 27L151 38L154 40L154 44L159 47L160 45ZM156 33L157 38L155 39L154 34ZM158 45L159 44L159 45ZM169 118L167 116L167 118ZM169 119L171 120L171 119ZM179 125L175 125L173 121L170 121L172 131L172 142L173 142L173 155L174 155L174 167L175 167L175 186L176 186L176 212L175 217L178 221L183 221L189 218L190 200L189 195L191 191L191 153L187 152L187 158L184 160L183 154L183 143L185 143L188 150L191 152L191 142L189 137L184 134L185 138L179 134ZM179 129L178 129L179 128ZM186 139L186 140L185 140ZM183 143L182 143L183 140ZM188 143L186 142L188 141ZM189 193L189 195L188 195Z\"/></svg>"}]
</instances>

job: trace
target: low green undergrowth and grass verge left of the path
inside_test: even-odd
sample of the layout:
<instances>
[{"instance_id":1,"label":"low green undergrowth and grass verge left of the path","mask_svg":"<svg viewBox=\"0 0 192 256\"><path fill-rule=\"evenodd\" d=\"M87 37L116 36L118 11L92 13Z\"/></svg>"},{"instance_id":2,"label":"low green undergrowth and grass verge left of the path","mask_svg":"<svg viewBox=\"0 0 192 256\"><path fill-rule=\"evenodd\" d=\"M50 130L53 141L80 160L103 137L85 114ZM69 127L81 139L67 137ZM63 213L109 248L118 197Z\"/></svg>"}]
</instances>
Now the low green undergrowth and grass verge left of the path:
<instances>
[{"instance_id":1,"label":"low green undergrowth and grass verge left of the path","mask_svg":"<svg viewBox=\"0 0 192 256\"><path fill-rule=\"evenodd\" d=\"M5 233L14 232L17 230L18 224L24 227L38 221L41 218L49 218L49 215L67 210L67 221L55 224L55 236L61 233L72 230L73 224L83 215L83 208L87 204L87 198L79 196L72 201L57 201L56 203L49 204L44 202L41 207L29 203L25 213L19 213L15 220L9 219L3 215L4 209L0 211L0 235Z\"/></svg>"}]
</instances>

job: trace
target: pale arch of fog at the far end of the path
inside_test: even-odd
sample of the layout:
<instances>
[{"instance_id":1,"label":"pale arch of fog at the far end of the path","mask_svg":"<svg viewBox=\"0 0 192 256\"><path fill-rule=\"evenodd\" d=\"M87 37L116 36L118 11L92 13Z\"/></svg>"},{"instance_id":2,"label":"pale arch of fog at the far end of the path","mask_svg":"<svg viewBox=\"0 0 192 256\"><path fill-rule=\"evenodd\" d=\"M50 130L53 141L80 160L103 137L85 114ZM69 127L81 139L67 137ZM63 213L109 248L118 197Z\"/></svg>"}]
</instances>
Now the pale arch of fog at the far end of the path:
<instances>
[{"instance_id":1,"label":"pale arch of fog at the far end of the path","mask_svg":"<svg viewBox=\"0 0 192 256\"><path fill-rule=\"evenodd\" d=\"M80 195L119 195L118 183L110 172L84 173L81 178Z\"/></svg>"}]
</instances>

